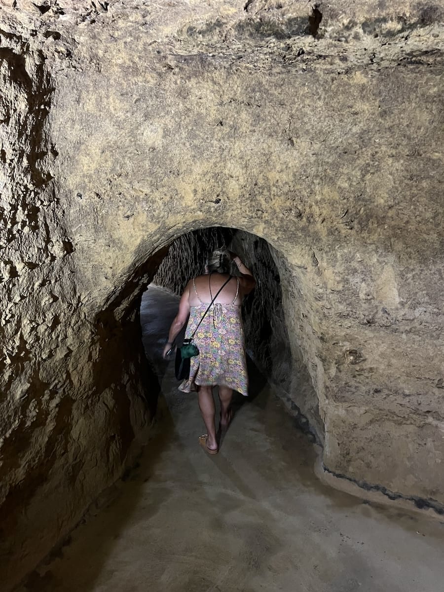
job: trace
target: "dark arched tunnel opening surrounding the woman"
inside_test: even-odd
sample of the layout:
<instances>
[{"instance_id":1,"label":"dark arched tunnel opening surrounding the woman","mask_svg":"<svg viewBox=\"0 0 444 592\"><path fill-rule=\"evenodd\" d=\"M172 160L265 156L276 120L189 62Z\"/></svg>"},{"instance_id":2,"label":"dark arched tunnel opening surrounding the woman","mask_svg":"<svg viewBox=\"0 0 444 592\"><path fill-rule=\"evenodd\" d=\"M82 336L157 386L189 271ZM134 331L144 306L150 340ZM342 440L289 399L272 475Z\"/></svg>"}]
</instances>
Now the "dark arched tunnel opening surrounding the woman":
<instances>
[{"instance_id":1,"label":"dark arched tunnel opening surrounding the woman","mask_svg":"<svg viewBox=\"0 0 444 592\"><path fill-rule=\"evenodd\" d=\"M323 423L317 395L300 346L293 342L292 352L288 336L277 266L282 255L255 234L227 227L210 227L189 231L169 245L149 288L141 297L144 349L156 379L162 382L168 369L172 374L173 358L164 361L161 354L164 338L177 312L178 297L189 279L205 273L208 253L221 246L239 253L256 280L255 289L242 304L249 369L248 400L258 395L264 382L270 382L275 395L281 398L294 417L295 426L303 430L311 441L321 444ZM176 295L176 300L170 298L165 289ZM185 328L182 337L184 331ZM158 389L162 392L161 384ZM152 401L154 408L156 403L156 400ZM236 403L242 404L243 397L236 398L235 395L234 405Z\"/></svg>"}]
</instances>

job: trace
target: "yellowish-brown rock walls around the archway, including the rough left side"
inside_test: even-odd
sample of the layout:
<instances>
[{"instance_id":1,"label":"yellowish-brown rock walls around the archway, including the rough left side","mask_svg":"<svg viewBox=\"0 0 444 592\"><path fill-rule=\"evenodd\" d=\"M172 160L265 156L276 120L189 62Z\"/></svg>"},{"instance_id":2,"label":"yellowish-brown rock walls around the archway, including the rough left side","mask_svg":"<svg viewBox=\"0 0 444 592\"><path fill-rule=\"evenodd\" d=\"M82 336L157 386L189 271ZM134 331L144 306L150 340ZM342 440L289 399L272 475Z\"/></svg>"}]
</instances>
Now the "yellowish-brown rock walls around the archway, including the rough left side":
<instances>
[{"instance_id":1,"label":"yellowish-brown rock walls around the archway, including the rough left side","mask_svg":"<svg viewBox=\"0 0 444 592\"><path fill-rule=\"evenodd\" d=\"M442 17L0 1L7 589L149 437L140 298L175 241L255 266L250 349L336 486L443 513Z\"/></svg>"}]
</instances>

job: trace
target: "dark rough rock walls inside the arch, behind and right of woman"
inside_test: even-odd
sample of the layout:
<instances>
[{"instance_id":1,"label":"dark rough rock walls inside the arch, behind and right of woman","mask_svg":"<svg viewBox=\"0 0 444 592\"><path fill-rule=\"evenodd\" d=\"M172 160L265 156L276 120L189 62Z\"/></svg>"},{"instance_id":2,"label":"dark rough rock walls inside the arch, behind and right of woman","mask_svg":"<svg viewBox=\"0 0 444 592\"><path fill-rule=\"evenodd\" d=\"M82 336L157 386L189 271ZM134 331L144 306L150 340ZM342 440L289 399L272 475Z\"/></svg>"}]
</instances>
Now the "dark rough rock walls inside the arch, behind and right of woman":
<instances>
[{"instance_id":1,"label":"dark rough rock walls inside the arch, behind and right of woman","mask_svg":"<svg viewBox=\"0 0 444 592\"><path fill-rule=\"evenodd\" d=\"M183 234L169 246L152 283L180 295L190 278L204 273L208 253L222 245L239 253L256 279L255 290L242 305L247 354L262 375L276 387L297 425L317 442L323 442L317 395L300 346L294 341L292 353L288 336L282 307L281 278L276 266L282 255L272 249L266 240L245 231L223 227Z\"/></svg>"}]
</instances>

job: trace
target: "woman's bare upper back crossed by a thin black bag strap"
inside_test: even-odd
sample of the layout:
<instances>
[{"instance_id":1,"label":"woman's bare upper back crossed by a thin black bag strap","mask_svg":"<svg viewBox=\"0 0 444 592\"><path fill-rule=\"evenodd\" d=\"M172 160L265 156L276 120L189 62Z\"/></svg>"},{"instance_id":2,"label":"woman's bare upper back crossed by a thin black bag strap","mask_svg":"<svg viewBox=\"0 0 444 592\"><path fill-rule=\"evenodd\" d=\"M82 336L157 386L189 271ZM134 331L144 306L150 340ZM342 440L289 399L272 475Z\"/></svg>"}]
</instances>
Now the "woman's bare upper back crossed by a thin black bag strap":
<instances>
[{"instance_id":1,"label":"woman's bare upper back crossed by a thin black bag strap","mask_svg":"<svg viewBox=\"0 0 444 592\"><path fill-rule=\"evenodd\" d=\"M190 306L210 304L220 288L229 279L228 274L199 275L192 280L192 287L189 289L188 302ZM211 291L210 291L211 288ZM233 277L224 286L215 299L215 304L240 305L243 298L242 278Z\"/></svg>"}]
</instances>

